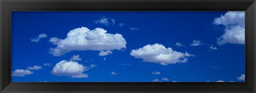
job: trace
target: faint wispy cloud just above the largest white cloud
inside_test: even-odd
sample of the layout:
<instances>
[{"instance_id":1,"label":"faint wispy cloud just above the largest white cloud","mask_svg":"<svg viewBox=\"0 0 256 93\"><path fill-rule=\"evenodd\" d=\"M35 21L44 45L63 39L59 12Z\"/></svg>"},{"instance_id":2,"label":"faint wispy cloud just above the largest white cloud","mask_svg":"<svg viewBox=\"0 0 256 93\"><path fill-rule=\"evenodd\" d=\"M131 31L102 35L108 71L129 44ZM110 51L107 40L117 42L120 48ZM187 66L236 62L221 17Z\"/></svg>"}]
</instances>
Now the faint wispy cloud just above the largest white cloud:
<instances>
[{"instance_id":1,"label":"faint wispy cloud just above the largest white cloud","mask_svg":"<svg viewBox=\"0 0 256 93\"><path fill-rule=\"evenodd\" d=\"M111 21L111 22L110 22ZM106 18L106 16L101 17L99 20L95 21L95 23L104 24L105 26L109 26L109 24L115 24L116 20L112 18Z\"/></svg>"}]
</instances>

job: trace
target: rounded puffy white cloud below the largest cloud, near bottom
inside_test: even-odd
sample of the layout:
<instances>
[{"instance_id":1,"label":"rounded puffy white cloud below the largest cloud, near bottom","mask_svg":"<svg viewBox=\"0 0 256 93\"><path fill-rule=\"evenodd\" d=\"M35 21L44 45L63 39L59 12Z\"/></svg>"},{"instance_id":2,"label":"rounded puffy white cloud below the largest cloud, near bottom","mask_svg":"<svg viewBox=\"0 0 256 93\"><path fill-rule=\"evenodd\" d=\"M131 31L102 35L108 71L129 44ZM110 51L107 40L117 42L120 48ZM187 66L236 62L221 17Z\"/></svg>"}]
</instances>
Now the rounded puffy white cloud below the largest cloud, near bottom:
<instances>
[{"instance_id":1,"label":"rounded puffy white cloud below the largest cloud, near bottom","mask_svg":"<svg viewBox=\"0 0 256 93\"><path fill-rule=\"evenodd\" d=\"M91 66L90 66L91 67ZM52 74L56 76L70 76L71 78L87 78L88 75L83 72L89 70L90 67L83 66L73 61L60 61L53 69Z\"/></svg>"}]
</instances>

